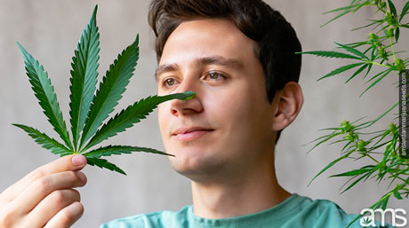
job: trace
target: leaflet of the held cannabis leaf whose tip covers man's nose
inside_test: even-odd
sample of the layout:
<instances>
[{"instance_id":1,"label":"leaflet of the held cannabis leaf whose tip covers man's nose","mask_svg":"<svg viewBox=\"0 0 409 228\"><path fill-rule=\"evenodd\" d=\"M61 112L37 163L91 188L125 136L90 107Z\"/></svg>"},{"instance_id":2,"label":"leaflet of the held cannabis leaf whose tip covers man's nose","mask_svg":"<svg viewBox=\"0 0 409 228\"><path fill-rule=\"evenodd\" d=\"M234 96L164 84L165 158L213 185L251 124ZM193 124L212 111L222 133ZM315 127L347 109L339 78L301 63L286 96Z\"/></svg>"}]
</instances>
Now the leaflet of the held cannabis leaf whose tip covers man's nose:
<instances>
[{"instance_id":1,"label":"leaflet of the held cannabis leaf whose tip covers man's nose","mask_svg":"<svg viewBox=\"0 0 409 228\"><path fill-rule=\"evenodd\" d=\"M185 93L175 93L166 95L164 97L154 96L141 99L135 102L132 106L128 106L122 110L121 113L116 114L114 118L111 118L106 124L104 124L99 131L91 138L88 145L84 147L84 150L99 144L101 141L116 136L117 133L122 132L128 128L131 128L133 124L140 122L141 119L145 119L157 105L171 100L171 99L188 99L195 96L194 92L187 91Z\"/></svg>"}]
</instances>

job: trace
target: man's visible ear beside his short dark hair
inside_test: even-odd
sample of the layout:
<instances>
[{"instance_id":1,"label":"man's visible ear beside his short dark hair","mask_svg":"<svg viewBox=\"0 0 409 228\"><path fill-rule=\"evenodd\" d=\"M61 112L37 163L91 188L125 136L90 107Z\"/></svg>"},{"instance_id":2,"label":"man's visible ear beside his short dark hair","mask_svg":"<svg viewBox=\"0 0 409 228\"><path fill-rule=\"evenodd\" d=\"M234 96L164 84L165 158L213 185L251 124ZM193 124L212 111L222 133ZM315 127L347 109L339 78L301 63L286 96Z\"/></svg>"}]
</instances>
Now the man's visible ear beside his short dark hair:
<instances>
[{"instance_id":1,"label":"man's visible ear beside his short dark hair","mask_svg":"<svg viewBox=\"0 0 409 228\"><path fill-rule=\"evenodd\" d=\"M298 83L286 83L282 90L278 90L273 100L273 130L283 130L290 125L300 113L303 102L301 86Z\"/></svg>"}]
</instances>

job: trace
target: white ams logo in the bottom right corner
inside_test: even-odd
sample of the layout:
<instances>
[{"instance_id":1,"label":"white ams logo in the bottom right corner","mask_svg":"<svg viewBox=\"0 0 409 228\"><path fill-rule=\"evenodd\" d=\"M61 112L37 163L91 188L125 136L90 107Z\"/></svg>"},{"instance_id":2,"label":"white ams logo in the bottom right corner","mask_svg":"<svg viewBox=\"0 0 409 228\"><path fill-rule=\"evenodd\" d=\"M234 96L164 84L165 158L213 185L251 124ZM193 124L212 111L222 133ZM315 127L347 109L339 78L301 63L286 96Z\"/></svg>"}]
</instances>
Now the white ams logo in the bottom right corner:
<instances>
[{"instance_id":1,"label":"white ams logo in the bottom right corner","mask_svg":"<svg viewBox=\"0 0 409 228\"><path fill-rule=\"evenodd\" d=\"M385 215L387 214L387 212L390 213L391 217L392 217L392 221L391 224L396 226L396 227L402 227L405 226L407 224L407 219L405 216L399 216L397 215L397 213L402 213L402 215L406 215L406 211L405 209L402 208L397 208L397 209L391 209L391 208L386 208L385 210L378 208L378 209L371 209L371 208L365 208L363 210L361 210L361 215L365 215L367 212L370 213L369 216L363 216L361 217L361 220L359 220L359 224L361 224L364 227L367 226L373 226L375 227L375 213L379 212L381 214L381 225L385 225L386 221L385 221ZM397 223L397 220L402 221L401 223Z\"/></svg>"}]
</instances>

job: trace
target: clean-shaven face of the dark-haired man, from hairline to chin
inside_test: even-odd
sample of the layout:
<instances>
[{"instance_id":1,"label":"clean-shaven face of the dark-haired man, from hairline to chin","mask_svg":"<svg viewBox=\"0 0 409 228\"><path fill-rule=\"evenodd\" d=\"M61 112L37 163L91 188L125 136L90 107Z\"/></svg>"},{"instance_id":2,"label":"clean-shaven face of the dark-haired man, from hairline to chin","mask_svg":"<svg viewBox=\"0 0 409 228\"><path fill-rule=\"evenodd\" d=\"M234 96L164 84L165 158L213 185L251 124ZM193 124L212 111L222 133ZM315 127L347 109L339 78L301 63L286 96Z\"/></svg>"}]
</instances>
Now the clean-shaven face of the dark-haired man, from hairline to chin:
<instances>
[{"instance_id":1,"label":"clean-shaven face of the dark-haired man, from hairline to chin","mask_svg":"<svg viewBox=\"0 0 409 228\"><path fill-rule=\"evenodd\" d=\"M180 24L156 71L159 95L194 91L159 106L173 169L196 180L237 175L272 162L274 104L269 104L254 43L228 20Z\"/></svg>"}]
</instances>

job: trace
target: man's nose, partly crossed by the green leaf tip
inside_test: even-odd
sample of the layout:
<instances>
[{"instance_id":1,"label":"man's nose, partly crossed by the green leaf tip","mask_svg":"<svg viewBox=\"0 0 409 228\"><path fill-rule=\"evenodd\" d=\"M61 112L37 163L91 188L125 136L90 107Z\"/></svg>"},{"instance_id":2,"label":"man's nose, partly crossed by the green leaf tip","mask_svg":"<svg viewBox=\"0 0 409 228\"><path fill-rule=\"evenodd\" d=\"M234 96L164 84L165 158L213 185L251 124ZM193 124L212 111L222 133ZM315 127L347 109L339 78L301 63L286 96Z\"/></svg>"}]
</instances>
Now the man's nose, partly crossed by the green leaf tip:
<instances>
[{"instance_id":1,"label":"man's nose, partly crossed by the green leaf tip","mask_svg":"<svg viewBox=\"0 0 409 228\"><path fill-rule=\"evenodd\" d=\"M199 114L204 111L204 106L201 100L202 93L200 82L195 80L194 77L185 77L185 80L180 83L176 92L186 91L193 91L196 95L194 98L188 100L171 100L171 113L175 116Z\"/></svg>"}]
</instances>

